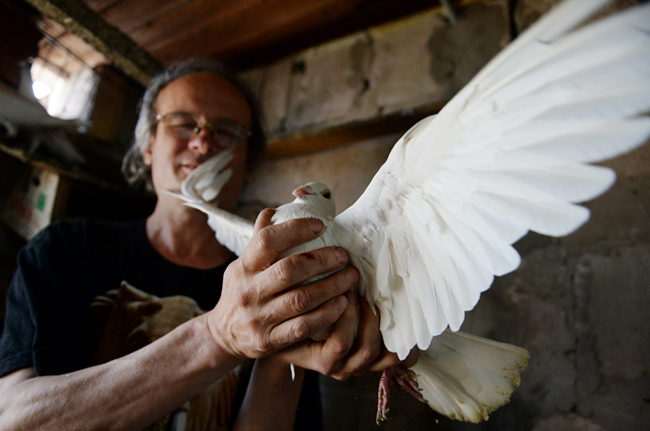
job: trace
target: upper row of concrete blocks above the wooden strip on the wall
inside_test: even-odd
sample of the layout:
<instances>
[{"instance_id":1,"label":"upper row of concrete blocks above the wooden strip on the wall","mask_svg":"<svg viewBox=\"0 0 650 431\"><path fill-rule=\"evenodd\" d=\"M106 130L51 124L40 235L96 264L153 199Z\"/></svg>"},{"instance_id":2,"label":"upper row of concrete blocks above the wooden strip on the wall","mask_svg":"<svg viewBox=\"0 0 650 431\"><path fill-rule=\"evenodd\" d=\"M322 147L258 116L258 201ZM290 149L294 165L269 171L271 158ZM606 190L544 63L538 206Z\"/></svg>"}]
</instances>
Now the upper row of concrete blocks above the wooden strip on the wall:
<instances>
[{"instance_id":1,"label":"upper row of concrete blocks above the wooden strip on the wall","mask_svg":"<svg viewBox=\"0 0 650 431\"><path fill-rule=\"evenodd\" d=\"M434 8L247 71L269 135L448 100L510 39L505 0L465 3L456 26Z\"/></svg>"}]
</instances>

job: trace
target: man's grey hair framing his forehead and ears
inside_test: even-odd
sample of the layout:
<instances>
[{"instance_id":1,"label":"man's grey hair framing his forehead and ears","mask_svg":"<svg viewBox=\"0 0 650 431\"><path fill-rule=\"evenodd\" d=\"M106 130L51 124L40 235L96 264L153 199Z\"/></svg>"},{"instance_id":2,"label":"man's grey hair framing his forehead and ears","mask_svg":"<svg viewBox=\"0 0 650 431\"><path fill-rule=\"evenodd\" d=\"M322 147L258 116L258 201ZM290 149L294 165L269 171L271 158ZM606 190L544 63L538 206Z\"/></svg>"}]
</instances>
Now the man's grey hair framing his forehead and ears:
<instances>
[{"instance_id":1,"label":"man's grey hair framing his forehead and ears","mask_svg":"<svg viewBox=\"0 0 650 431\"><path fill-rule=\"evenodd\" d=\"M191 59L165 68L160 73L157 73L151 79L151 82L149 82L149 86L147 86L140 101L140 114L137 117L137 124L135 124L133 144L126 151L124 160L122 160L122 173L128 184L132 186L144 185L146 189L153 190L151 167L144 164L144 151L149 146L151 136L155 133L155 101L158 93L174 79L199 72L211 72L220 75L244 95L251 108L252 115L251 135L247 143L249 169L252 169L257 162L262 160L266 139L260 124L258 105L251 90L240 82L233 73L227 70L224 64L209 59Z\"/></svg>"}]
</instances>

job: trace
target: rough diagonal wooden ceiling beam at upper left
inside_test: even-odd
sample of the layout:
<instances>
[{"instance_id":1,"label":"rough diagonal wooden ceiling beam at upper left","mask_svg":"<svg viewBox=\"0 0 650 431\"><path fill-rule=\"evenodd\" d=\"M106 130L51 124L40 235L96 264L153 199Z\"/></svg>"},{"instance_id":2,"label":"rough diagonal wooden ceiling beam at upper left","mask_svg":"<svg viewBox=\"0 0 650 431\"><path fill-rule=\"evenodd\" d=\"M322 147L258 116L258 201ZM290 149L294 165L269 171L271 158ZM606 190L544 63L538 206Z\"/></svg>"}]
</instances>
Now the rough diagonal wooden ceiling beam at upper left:
<instances>
[{"instance_id":1,"label":"rough diagonal wooden ceiling beam at upper left","mask_svg":"<svg viewBox=\"0 0 650 431\"><path fill-rule=\"evenodd\" d=\"M143 86L162 65L119 29L107 23L82 0L25 0L87 44Z\"/></svg>"}]
</instances>

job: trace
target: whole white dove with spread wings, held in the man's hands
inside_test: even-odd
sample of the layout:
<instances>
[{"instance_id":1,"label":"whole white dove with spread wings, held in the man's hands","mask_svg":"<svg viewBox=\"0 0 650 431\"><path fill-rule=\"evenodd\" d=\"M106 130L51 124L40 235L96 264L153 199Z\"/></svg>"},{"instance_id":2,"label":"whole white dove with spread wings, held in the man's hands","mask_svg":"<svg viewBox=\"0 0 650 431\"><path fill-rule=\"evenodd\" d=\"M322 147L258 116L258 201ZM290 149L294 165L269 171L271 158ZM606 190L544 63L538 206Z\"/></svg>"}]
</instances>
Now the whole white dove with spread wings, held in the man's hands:
<instances>
[{"instance_id":1,"label":"whole white dove with spread wings, held in the man's hands","mask_svg":"<svg viewBox=\"0 0 650 431\"><path fill-rule=\"evenodd\" d=\"M276 222L323 220L323 236L294 251L347 249L360 293L379 310L383 343L400 358L422 350L412 367L421 396L452 419L487 419L526 365L520 347L457 332L494 277L519 266L512 244L528 231L564 236L580 227L589 210L574 202L615 180L588 163L650 135L650 4L582 26L607 2L568 0L535 23L405 133L343 213L334 216L319 183L276 211ZM203 166L195 175L211 183L216 172ZM185 199L209 215L224 245L242 251L251 222L222 222L224 211L196 193ZM236 241L224 233L233 226L246 231Z\"/></svg>"}]
</instances>

